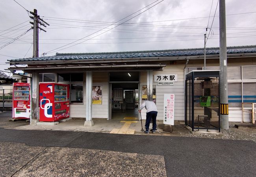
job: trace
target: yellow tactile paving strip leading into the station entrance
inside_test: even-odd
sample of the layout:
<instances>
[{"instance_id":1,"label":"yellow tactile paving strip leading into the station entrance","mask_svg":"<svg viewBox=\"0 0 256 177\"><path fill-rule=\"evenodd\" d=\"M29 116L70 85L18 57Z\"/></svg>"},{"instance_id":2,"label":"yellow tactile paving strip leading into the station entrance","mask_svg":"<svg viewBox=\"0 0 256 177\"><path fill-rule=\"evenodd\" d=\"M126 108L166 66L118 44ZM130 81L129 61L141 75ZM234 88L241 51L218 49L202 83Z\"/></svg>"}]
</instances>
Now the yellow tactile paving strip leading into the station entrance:
<instances>
[{"instance_id":1,"label":"yellow tactile paving strip leading into the station entrance","mask_svg":"<svg viewBox=\"0 0 256 177\"><path fill-rule=\"evenodd\" d=\"M121 127L121 129L113 129L110 133L113 134L134 134L135 129L129 129L130 125L132 123L137 123L138 121L125 121L125 120L137 120L136 117L125 117L124 120L121 120L124 125Z\"/></svg>"}]
</instances>

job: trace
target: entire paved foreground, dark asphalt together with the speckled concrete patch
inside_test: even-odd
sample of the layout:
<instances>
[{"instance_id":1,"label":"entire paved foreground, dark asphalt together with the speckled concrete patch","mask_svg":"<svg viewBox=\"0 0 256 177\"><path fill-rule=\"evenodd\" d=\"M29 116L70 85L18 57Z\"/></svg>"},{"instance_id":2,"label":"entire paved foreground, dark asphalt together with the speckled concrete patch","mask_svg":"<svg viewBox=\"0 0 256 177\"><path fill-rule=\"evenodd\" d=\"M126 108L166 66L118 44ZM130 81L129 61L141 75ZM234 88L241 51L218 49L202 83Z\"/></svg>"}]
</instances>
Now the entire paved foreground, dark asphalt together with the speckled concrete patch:
<instances>
[{"instance_id":1,"label":"entire paved foreground, dark asphalt together with the speckled concrete patch","mask_svg":"<svg viewBox=\"0 0 256 177\"><path fill-rule=\"evenodd\" d=\"M0 135L1 176L256 175L251 141L14 129Z\"/></svg>"}]
</instances>

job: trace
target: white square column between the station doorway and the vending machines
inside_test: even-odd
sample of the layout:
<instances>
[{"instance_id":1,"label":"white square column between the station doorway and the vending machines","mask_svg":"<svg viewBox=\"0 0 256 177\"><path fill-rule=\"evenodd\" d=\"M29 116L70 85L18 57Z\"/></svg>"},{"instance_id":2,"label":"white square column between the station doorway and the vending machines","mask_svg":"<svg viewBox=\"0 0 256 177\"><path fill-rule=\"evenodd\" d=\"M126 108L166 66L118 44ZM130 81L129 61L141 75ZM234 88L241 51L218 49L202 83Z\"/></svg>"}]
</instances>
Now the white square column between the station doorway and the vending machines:
<instances>
[{"instance_id":1,"label":"white square column between the station doorway and the vending machines","mask_svg":"<svg viewBox=\"0 0 256 177\"><path fill-rule=\"evenodd\" d=\"M91 71L86 72L86 120L84 126L93 126L92 120L92 89L93 89L93 74Z\"/></svg>"}]
</instances>

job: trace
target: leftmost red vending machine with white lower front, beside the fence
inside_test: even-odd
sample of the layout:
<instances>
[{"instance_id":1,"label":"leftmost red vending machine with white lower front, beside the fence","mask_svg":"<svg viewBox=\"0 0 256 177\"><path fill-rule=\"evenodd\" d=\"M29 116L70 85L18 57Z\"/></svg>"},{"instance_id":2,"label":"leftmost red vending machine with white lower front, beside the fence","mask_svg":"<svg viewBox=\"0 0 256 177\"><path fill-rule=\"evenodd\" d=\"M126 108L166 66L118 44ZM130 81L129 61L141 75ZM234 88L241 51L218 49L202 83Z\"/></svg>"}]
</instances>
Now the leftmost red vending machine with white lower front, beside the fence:
<instances>
[{"instance_id":1,"label":"leftmost red vending machine with white lower front, beside the fence","mask_svg":"<svg viewBox=\"0 0 256 177\"><path fill-rule=\"evenodd\" d=\"M13 119L30 118L30 84L13 83Z\"/></svg>"}]
</instances>

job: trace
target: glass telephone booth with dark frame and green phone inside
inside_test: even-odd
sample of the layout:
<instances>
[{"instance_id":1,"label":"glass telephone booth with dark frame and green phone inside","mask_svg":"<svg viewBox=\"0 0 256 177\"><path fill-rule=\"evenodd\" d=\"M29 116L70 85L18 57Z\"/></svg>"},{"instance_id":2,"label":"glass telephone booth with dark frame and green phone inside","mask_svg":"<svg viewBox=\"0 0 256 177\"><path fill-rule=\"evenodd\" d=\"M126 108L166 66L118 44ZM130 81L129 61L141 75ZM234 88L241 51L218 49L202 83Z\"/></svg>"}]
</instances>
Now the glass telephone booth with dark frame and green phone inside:
<instances>
[{"instance_id":1,"label":"glass telephone booth with dark frame and green phone inside","mask_svg":"<svg viewBox=\"0 0 256 177\"><path fill-rule=\"evenodd\" d=\"M194 70L186 74L185 124L192 131L220 128L219 70Z\"/></svg>"}]
</instances>

